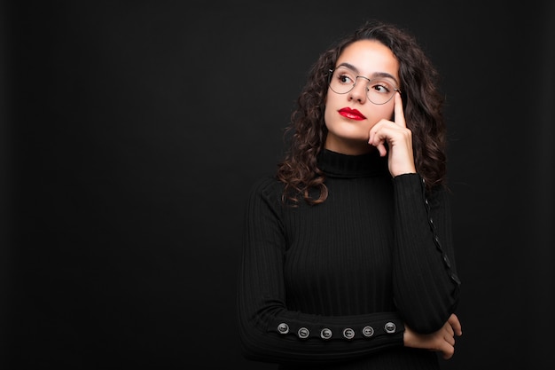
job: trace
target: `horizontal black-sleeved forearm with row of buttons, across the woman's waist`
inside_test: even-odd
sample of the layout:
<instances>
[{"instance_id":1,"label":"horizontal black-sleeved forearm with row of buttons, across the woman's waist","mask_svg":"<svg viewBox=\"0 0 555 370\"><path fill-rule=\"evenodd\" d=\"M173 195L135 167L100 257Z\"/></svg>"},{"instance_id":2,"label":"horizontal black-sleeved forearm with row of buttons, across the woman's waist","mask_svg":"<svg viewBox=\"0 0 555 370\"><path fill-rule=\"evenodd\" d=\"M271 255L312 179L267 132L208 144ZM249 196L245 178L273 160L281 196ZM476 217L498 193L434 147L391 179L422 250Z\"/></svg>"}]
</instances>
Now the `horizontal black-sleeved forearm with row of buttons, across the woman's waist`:
<instances>
[{"instance_id":1,"label":"horizontal black-sleeved forearm with row of buttons, across the woman's waist","mask_svg":"<svg viewBox=\"0 0 555 370\"><path fill-rule=\"evenodd\" d=\"M270 362L353 359L403 346L403 321L395 312L322 316L288 311L279 300L249 301L239 285L239 333L247 358ZM248 279L250 280L250 279Z\"/></svg>"}]
</instances>

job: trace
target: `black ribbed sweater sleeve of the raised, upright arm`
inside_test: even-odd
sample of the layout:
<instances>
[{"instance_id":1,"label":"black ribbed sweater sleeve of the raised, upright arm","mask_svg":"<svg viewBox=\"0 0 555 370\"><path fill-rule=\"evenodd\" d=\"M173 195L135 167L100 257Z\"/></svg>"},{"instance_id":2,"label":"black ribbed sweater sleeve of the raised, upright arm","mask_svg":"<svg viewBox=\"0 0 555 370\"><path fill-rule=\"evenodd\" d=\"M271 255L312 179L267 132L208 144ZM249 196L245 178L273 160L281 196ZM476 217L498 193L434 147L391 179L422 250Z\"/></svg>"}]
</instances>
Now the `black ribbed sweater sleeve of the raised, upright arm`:
<instances>
[{"instance_id":1,"label":"black ribbed sweater sleeve of the raised, upright arm","mask_svg":"<svg viewBox=\"0 0 555 370\"><path fill-rule=\"evenodd\" d=\"M418 174L393 181L395 305L411 329L432 333L455 311L459 295L448 193L426 192Z\"/></svg>"}]
</instances>

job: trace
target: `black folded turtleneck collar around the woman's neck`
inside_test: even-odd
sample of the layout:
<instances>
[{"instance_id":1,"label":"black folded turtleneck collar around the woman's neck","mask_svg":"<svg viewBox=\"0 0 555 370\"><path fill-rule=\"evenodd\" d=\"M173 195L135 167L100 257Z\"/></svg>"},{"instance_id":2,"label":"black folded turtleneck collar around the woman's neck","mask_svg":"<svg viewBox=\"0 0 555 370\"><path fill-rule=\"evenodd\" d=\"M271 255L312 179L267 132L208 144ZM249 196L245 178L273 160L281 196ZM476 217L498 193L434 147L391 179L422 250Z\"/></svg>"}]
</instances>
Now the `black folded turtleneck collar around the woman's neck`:
<instances>
[{"instance_id":1,"label":"black folded turtleneck collar around the woman's neck","mask_svg":"<svg viewBox=\"0 0 555 370\"><path fill-rule=\"evenodd\" d=\"M389 173L387 157L377 150L369 154L348 155L324 149L317 157L318 168L328 177L372 177Z\"/></svg>"}]
</instances>

